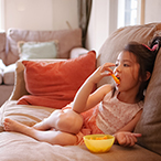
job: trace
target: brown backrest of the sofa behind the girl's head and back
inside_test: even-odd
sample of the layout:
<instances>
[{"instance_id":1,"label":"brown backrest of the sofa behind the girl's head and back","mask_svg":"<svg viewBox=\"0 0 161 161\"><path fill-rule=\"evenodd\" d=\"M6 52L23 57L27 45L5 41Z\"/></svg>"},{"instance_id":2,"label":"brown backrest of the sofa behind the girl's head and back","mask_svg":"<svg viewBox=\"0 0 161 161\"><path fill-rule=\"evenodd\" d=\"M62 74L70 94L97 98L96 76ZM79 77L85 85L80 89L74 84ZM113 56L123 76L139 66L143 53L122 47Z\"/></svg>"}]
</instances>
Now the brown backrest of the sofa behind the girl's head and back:
<instances>
[{"instance_id":1,"label":"brown backrest of the sofa behind the girl's head and back","mask_svg":"<svg viewBox=\"0 0 161 161\"><path fill-rule=\"evenodd\" d=\"M104 43L97 58L97 66L106 62L116 62L118 53L130 41L148 44L155 35L161 35L161 23L126 26L114 32ZM161 50L158 53L153 74L146 93L143 112L137 124L135 132L142 133L138 143L161 154ZM101 86L111 83L111 77L106 77L98 83Z\"/></svg>"}]
</instances>

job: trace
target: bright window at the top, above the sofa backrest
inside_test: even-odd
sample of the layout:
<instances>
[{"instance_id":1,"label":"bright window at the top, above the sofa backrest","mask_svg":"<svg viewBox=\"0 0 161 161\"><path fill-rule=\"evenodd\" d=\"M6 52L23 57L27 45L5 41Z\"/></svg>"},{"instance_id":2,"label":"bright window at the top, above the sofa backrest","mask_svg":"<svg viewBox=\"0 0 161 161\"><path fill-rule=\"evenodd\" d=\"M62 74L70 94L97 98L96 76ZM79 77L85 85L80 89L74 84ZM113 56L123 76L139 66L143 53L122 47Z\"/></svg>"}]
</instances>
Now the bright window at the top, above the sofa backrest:
<instances>
[{"instance_id":1,"label":"bright window at the top, above the sofa backrest","mask_svg":"<svg viewBox=\"0 0 161 161\"><path fill-rule=\"evenodd\" d=\"M141 6L143 0L118 0L118 26L141 23Z\"/></svg>"}]
</instances>

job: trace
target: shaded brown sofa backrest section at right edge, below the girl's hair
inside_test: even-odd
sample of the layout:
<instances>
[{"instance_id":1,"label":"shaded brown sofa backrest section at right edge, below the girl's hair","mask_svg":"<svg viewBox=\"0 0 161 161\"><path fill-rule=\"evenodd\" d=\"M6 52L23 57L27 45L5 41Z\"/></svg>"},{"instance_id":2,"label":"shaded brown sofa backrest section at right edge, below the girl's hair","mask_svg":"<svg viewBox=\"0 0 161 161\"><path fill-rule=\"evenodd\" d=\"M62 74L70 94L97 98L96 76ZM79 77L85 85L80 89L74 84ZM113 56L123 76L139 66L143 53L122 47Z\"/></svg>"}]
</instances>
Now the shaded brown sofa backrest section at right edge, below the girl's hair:
<instances>
[{"instance_id":1,"label":"shaded brown sofa backrest section at right edge, below the girl's hair","mask_svg":"<svg viewBox=\"0 0 161 161\"><path fill-rule=\"evenodd\" d=\"M161 154L161 50L147 89L143 112L136 127L139 144Z\"/></svg>"}]
</instances>

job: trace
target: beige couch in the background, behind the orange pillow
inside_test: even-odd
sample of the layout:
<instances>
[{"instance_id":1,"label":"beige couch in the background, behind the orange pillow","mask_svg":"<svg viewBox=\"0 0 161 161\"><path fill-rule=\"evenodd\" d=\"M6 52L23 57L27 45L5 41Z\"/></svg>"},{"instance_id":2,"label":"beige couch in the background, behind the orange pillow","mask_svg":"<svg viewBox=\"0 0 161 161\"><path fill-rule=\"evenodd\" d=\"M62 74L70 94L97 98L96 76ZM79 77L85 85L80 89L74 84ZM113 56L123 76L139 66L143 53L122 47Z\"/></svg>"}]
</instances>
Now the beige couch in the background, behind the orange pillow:
<instances>
[{"instance_id":1,"label":"beige couch in the background, behind the orange pillow","mask_svg":"<svg viewBox=\"0 0 161 161\"><path fill-rule=\"evenodd\" d=\"M55 41L56 54L47 55L47 49L44 49L44 57L46 58L69 58L78 55L72 54L72 50L75 47L82 47L82 31L80 29L75 30L60 30L60 31L31 31L20 29L9 29L8 32L0 33L0 106L9 98L14 86L14 72L15 62L22 57L20 46L18 44L23 41L23 46L37 45L37 42L51 42ZM33 44L28 44L28 43ZM46 44L44 44L45 46ZM25 47L24 46L24 47ZM23 53L24 49L23 47ZM21 46L22 49L22 46ZM26 52L26 51L25 51ZM31 51L33 50L31 49ZM71 53L72 52L72 53ZM79 54L86 53L83 49ZM42 55L34 58L41 58ZM26 58L26 57L25 57ZM33 57L30 57L33 58Z\"/></svg>"}]
</instances>

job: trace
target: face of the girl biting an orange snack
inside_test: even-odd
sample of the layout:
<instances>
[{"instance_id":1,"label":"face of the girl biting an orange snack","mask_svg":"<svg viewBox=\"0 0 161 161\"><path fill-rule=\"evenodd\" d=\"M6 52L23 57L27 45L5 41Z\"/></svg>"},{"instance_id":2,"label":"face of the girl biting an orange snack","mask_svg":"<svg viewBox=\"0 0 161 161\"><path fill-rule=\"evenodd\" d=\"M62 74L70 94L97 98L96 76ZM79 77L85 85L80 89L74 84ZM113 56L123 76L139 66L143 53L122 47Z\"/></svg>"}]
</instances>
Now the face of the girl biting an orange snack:
<instances>
[{"instance_id":1,"label":"face of the girl biting an orange snack","mask_svg":"<svg viewBox=\"0 0 161 161\"><path fill-rule=\"evenodd\" d=\"M139 90L140 65L137 62L136 56L130 52L121 52L116 61L115 75L120 79L120 84L117 85L119 92L121 90Z\"/></svg>"}]
</instances>

